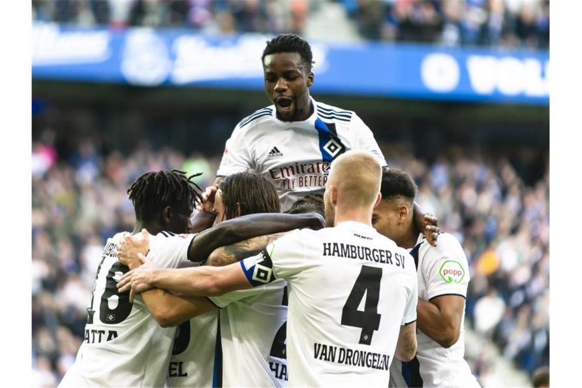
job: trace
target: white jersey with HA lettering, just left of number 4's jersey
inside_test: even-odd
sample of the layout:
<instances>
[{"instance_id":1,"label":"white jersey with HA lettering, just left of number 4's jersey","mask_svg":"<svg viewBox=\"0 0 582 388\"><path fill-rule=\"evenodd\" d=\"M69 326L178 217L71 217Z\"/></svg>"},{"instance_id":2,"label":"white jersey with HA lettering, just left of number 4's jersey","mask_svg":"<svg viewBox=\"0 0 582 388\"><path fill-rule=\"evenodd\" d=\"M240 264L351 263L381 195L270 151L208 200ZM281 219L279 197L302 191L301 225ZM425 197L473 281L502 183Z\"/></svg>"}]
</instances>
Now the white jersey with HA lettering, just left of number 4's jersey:
<instances>
[{"instance_id":1,"label":"white jersey with HA lettering, just left of number 4's jersey","mask_svg":"<svg viewBox=\"0 0 582 388\"><path fill-rule=\"evenodd\" d=\"M285 280L209 299L221 308L222 386L286 387Z\"/></svg>"}]
</instances>

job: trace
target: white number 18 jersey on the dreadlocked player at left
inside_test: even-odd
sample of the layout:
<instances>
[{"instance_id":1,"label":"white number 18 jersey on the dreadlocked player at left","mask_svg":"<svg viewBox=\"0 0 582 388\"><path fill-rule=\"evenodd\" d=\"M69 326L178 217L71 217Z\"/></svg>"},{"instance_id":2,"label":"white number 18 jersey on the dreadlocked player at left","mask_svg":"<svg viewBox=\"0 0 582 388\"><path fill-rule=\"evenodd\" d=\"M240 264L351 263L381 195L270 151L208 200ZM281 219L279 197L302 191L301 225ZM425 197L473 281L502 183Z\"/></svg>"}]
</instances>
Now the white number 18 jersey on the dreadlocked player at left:
<instances>
[{"instance_id":1,"label":"white number 18 jersey on the dreadlocked player at left","mask_svg":"<svg viewBox=\"0 0 582 388\"><path fill-rule=\"evenodd\" d=\"M180 244L158 245L159 254L152 261L173 268L186 254L194 234L165 236L173 233L162 232L151 236L151 241L178 239ZM132 304L129 292L118 292L120 277L129 271L115 255L122 237L123 233L115 234L105 244L87 308L85 338L59 387L164 386L176 328L161 328L141 296Z\"/></svg>"}]
</instances>

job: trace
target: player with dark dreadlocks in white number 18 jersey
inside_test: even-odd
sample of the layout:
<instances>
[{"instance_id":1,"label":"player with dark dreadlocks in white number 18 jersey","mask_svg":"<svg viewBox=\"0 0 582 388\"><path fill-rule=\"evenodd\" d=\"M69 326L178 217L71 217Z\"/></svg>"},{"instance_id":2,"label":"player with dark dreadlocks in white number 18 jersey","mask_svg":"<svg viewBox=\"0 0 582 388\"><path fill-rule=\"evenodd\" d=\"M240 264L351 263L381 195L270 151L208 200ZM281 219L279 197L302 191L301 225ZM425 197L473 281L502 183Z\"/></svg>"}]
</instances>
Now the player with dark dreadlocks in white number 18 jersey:
<instances>
[{"instance_id":1,"label":"player with dark dreadlocks in white number 18 jersey","mask_svg":"<svg viewBox=\"0 0 582 388\"><path fill-rule=\"evenodd\" d=\"M313 214L264 214L186 234L194 204L201 198L200 188L191 181L195 176L179 170L150 172L127 191L136 212L133 234L146 230L152 239L164 241L153 244L158 266L177 268L190 264L183 258L203 261L222 245L320 224ZM168 326L214 309L206 300L159 289L133 301L129 293L119 293L116 284L129 268L118 261L116 251L126 233L115 234L105 244L87 308L84 341L59 386L164 386L176 334L176 328Z\"/></svg>"}]
</instances>

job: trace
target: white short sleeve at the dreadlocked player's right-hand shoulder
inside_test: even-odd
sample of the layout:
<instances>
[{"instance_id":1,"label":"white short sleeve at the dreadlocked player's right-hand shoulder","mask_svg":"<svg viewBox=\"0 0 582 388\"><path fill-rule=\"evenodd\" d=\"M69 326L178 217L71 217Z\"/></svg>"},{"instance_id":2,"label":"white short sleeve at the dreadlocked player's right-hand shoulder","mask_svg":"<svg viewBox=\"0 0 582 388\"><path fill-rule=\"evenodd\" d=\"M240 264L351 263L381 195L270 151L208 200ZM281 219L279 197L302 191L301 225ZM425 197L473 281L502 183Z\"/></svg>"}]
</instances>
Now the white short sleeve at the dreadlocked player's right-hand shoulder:
<instances>
[{"instance_id":1,"label":"white short sleeve at the dreadlocked player's right-hand shoulder","mask_svg":"<svg viewBox=\"0 0 582 388\"><path fill-rule=\"evenodd\" d=\"M168 236L168 237L166 237ZM148 260L158 267L179 268L180 263L188 261L188 248L196 234L176 234L167 232L150 236L150 251L147 254Z\"/></svg>"}]
</instances>

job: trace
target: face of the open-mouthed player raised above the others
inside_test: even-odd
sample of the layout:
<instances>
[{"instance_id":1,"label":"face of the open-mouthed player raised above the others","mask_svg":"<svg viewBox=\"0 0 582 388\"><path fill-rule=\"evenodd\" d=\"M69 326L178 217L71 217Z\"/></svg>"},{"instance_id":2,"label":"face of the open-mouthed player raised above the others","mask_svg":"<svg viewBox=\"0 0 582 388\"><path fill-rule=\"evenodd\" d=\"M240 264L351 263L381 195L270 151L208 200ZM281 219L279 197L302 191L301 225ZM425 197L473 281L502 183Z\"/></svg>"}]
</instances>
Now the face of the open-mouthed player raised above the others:
<instances>
[{"instance_id":1,"label":"face of the open-mouthed player raised above the others","mask_svg":"<svg viewBox=\"0 0 582 388\"><path fill-rule=\"evenodd\" d=\"M309 87L313 73L298 52L279 52L265 56L262 63L265 93L275 104L283 121L302 121L309 117Z\"/></svg>"}]
</instances>

